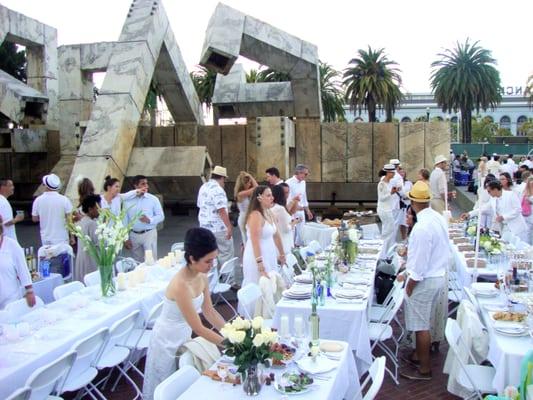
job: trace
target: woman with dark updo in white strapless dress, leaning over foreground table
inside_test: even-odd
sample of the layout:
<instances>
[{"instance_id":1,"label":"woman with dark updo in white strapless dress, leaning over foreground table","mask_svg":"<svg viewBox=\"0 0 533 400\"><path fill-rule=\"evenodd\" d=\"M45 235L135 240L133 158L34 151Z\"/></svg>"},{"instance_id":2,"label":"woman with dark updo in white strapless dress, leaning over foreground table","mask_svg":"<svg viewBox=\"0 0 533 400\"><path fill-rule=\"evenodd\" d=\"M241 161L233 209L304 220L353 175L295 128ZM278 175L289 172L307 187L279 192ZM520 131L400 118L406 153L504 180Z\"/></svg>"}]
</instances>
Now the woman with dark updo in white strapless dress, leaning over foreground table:
<instances>
[{"instance_id":1,"label":"woman with dark updo in white strapless dress, leaning over foreground table","mask_svg":"<svg viewBox=\"0 0 533 400\"><path fill-rule=\"evenodd\" d=\"M144 369L145 400L153 399L156 386L176 370L176 351L191 339L192 332L216 345L223 341L199 316L201 312L218 330L224 326L224 319L211 303L207 279L218 254L215 236L205 228L191 228L185 234L184 247L187 266L170 281L163 310L152 330Z\"/></svg>"}]
</instances>

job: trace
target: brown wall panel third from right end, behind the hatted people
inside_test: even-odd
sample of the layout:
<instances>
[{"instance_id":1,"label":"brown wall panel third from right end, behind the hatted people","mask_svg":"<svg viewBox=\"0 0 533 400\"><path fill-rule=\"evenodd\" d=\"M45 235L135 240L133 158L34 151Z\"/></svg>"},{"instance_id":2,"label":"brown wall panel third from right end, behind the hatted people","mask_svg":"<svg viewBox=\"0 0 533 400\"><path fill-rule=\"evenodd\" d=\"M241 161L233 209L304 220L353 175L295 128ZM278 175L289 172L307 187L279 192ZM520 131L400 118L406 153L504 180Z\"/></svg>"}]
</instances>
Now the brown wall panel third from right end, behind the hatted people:
<instances>
[{"instance_id":1,"label":"brown wall panel third from right end, behind the hatted people","mask_svg":"<svg viewBox=\"0 0 533 400\"><path fill-rule=\"evenodd\" d=\"M378 181L378 172L391 158L398 158L398 125L374 123L373 129L373 171L372 179ZM400 160L401 161L401 160Z\"/></svg>"}]
</instances>

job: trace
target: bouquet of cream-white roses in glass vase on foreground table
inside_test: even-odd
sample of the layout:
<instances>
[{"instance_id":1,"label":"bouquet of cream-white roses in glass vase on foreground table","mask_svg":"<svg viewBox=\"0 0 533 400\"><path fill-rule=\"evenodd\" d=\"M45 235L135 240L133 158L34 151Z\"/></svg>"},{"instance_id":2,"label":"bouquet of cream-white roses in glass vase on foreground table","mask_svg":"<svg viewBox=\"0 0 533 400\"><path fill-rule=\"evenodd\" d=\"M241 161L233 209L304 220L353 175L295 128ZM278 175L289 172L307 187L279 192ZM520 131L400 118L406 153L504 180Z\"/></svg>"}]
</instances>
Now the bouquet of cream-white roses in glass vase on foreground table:
<instances>
[{"instance_id":1,"label":"bouquet of cream-white roses in glass vase on foreground table","mask_svg":"<svg viewBox=\"0 0 533 400\"><path fill-rule=\"evenodd\" d=\"M237 317L233 322L225 324L220 333L224 337L222 343L226 347L225 354L235 357L237 371L244 375L244 391L248 395L257 394L261 389L257 365L264 364L269 359L283 358L281 353L271 349L278 334L263 327L262 317L255 317L253 320Z\"/></svg>"}]
</instances>

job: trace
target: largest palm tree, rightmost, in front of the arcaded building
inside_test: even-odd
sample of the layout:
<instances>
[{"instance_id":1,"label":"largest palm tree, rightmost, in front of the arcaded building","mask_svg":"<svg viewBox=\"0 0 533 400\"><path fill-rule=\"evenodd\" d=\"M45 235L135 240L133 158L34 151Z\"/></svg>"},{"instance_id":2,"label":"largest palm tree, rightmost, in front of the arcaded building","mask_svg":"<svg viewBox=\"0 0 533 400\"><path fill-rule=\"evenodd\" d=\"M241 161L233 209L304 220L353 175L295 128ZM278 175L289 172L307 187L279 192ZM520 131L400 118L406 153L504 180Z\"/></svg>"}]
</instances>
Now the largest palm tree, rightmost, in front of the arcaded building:
<instances>
[{"instance_id":1,"label":"largest palm tree, rightmost, in front of the arcaded building","mask_svg":"<svg viewBox=\"0 0 533 400\"><path fill-rule=\"evenodd\" d=\"M500 73L490 50L457 42L454 49L439 53L431 63L431 89L443 112L461 110L463 141L472 141L472 111L496 107L501 101Z\"/></svg>"}]
</instances>

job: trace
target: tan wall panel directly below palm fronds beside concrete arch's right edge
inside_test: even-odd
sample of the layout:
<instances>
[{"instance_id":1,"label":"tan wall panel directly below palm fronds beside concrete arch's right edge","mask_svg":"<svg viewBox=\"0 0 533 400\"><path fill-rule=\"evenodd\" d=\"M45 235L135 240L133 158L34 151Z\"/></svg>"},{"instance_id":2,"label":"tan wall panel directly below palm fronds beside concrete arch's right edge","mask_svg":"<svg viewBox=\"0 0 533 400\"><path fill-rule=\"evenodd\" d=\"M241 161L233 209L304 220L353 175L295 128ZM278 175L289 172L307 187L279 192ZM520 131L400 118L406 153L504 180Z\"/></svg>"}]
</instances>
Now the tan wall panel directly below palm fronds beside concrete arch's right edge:
<instances>
[{"instance_id":1,"label":"tan wall panel directly below palm fronds beside concrete arch's right edge","mask_svg":"<svg viewBox=\"0 0 533 400\"><path fill-rule=\"evenodd\" d=\"M346 132L344 122L322 124L322 181L346 182Z\"/></svg>"}]
</instances>

